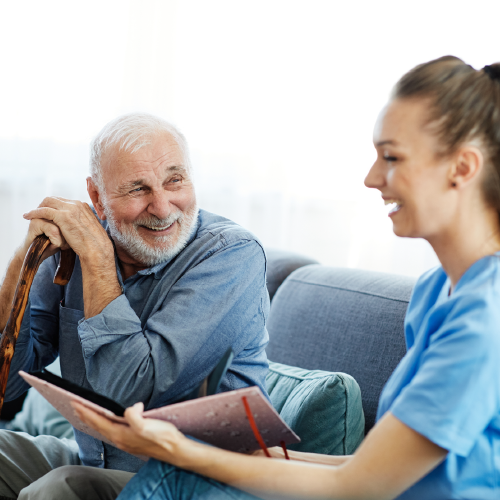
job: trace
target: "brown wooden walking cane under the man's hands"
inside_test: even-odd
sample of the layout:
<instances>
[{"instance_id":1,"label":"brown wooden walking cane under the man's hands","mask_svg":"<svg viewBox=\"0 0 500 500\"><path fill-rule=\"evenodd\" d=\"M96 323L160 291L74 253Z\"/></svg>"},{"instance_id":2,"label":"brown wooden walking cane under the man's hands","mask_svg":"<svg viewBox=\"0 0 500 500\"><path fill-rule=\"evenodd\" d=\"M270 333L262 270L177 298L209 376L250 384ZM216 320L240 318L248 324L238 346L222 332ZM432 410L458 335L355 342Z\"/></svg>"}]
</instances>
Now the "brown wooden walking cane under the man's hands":
<instances>
[{"instance_id":1,"label":"brown wooden walking cane under the man's hands","mask_svg":"<svg viewBox=\"0 0 500 500\"><path fill-rule=\"evenodd\" d=\"M21 329L24 311L28 304L28 296L33 283L33 278L40 266L40 259L43 252L49 246L50 240L44 234L37 236L28 249L28 253L23 262L19 281L17 283L16 293L12 301L12 309L7 321L7 325L2 333L0 341L0 413L2 411L7 380L9 378L10 363L14 356L17 337ZM73 250L61 250L59 266L54 276L54 283L57 285L66 285L73 272L75 265L75 252Z\"/></svg>"}]
</instances>

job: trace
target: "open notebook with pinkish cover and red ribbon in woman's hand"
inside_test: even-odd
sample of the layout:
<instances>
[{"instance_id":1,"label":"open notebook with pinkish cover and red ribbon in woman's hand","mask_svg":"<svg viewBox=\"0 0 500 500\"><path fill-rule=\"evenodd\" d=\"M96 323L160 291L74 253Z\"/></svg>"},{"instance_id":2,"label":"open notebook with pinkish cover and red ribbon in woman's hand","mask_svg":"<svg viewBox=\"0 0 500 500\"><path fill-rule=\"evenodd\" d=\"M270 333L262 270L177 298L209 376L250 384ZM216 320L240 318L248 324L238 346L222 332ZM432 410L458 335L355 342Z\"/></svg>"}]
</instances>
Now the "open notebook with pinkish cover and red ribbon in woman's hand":
<instances>
[{"instance_id":1,"label":"open notebook with pinkish cover and red ribbon in woman's hand","mask_svg":"<svg viewBox=\"0 0 500 500\"><path fill-rule=\"evenodd\" d=\"M181 401L147 410L143 416L171 422L186 435L241 453L259 449L258 438L262 438L267 447L299 442L300 438L281 419L258 387L217 394L232 357L232 351L228 350L203 383ZM125 408L106 396L73 384L47 370L31 373L20 371L19 375L75 429L100 441L113 444L78 418L71 406L72 401L126 425L123 418ZM249 418L255 423L257 433L252 430Z\"/></svg>"}]
</instances>

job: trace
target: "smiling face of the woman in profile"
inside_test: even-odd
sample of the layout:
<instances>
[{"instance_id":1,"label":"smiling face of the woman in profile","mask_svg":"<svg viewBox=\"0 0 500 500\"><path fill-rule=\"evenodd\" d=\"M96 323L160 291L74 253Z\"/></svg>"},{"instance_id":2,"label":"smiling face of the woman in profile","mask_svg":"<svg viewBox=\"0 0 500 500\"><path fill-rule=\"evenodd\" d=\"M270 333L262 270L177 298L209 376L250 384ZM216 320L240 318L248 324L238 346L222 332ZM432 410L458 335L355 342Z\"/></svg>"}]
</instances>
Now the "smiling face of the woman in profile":
<instances>
[{"instance_id":1,"label":"smiling face of the woman in profile","mask_svg":"<svg viewBox=\"0 0 500 500\"><path fill-rule=\"evenodd\" d=\"M365 185L381 192L396 235L429 240L449 226L453 203L450 160L436 154L427 112L422 99L396 99L382 111L373 139L377 159Z\"/></svg>"}]
</instances>

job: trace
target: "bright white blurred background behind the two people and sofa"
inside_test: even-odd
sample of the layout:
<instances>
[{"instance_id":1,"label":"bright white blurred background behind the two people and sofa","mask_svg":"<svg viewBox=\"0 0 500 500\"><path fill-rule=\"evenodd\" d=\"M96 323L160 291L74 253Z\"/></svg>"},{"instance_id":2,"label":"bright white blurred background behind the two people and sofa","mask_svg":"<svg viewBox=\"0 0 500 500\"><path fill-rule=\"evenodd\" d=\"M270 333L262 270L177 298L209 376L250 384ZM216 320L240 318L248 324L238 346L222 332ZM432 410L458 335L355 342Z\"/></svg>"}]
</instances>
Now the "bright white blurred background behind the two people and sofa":
<instances>
[{"instance_id":1,"label":"bright white blurred background behind the two people and sofa","mask_svg":"<svg viewBox=\"0 0 500 500\"><path fill-rule=\"evenodd\" d=\"M0 272L22 214L88 201L88 144L149 111L190 144L202 208L267 247L417 276L363 179L392 85L452 54L500 60L497 0L0 0Z\"/></svg>"}]
</instances>

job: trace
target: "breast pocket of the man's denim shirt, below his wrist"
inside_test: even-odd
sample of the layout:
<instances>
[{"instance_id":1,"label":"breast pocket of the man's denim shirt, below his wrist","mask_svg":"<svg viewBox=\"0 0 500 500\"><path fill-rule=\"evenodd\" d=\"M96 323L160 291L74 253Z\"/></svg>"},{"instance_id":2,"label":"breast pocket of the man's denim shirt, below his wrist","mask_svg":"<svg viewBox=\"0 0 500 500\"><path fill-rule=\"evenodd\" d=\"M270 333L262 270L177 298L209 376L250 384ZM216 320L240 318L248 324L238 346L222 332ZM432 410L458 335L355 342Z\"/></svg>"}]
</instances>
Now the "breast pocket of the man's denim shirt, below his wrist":
<instances>
[{"instance_id":1,"label":"breast pocket of the man's denim shirt, below his wrist","mask_svg":"<svg viewBox=\"0 0 500 500\"><path fill-rule=\"evenodd\" d=\"M78 336L78 322L84 317L83 311L59 306L59 356L63 378L83 384L85 362Z\"/></svg>"}]
</instances>

